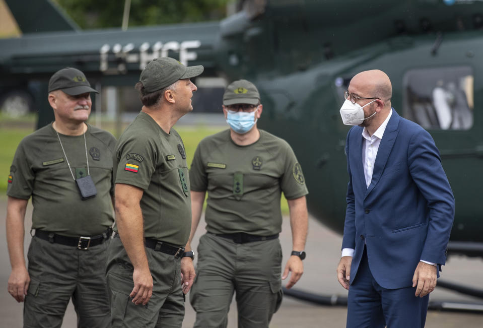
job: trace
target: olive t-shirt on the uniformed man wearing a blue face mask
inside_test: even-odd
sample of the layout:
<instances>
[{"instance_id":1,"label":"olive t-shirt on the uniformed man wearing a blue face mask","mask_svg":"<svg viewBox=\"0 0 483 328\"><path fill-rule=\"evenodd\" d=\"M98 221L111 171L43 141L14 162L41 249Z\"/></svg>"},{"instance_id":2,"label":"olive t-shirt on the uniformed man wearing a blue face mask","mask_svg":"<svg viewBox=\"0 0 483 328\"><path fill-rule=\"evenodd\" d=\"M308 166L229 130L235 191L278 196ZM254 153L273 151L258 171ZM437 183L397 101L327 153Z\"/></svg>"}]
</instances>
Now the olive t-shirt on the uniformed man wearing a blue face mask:
<instances>
[{"instance_id":1,"label":"olive t-shirt on the uniformed man wearing a blue face mask","mask_svg":"<svg viewBox=\"0 0 483 328\"><path fill-rule=\"evenodd\" d=\"M189 171L191 190L208 190L206 230L268 236L282 230L281 192L287 199L308 193L289 144L264 130L248 146L236 145L230 130L204 138Z\"/></svg>"}]
</instances>

